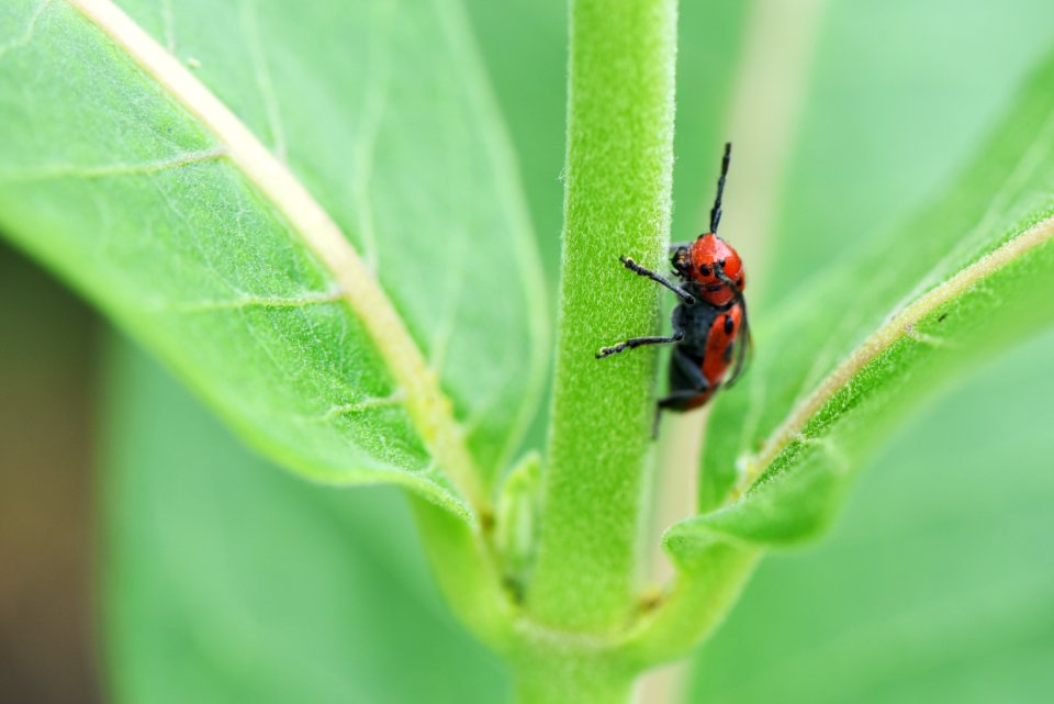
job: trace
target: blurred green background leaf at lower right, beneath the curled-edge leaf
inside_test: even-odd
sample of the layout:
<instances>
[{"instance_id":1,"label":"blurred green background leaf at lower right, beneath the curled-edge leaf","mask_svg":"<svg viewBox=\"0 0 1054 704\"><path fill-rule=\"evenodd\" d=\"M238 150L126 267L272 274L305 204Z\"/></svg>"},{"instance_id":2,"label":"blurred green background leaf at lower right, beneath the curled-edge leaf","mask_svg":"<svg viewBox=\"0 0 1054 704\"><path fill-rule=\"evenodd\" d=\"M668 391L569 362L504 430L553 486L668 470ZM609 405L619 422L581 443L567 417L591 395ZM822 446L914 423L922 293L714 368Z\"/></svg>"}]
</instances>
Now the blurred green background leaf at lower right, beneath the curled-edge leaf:
<instances>
[{"instance_id":1,"label":"blurred green background leaf at lower right, beneath the curled-edge leaf","mask_svg":"<svg viewBox=\"0 0 1054 704\"><path fill-rule=\"evenodd\" d=\"M765 558L692 704L1041 702L1054 689L1054 334L960 377L831 535Z\"/></svg>"}]
</instances>

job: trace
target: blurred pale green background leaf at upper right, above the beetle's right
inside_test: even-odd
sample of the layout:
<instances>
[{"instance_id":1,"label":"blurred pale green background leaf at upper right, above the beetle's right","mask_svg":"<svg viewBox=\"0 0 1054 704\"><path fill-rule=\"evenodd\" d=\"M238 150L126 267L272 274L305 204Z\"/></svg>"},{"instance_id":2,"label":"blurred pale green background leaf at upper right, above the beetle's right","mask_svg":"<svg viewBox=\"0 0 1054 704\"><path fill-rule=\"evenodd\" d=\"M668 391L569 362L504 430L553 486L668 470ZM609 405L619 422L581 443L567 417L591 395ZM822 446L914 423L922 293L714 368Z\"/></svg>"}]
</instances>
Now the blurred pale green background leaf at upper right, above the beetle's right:
<instances>
[{"instance_id":1,"label":"blurred pale green background leaf at upper right, above the beetle's right","mask_svg":"<svg viewBox=\"0 0 1054 704\"><path fill-rule=\"evenodd\" d=\"M759 312L946 190L1054 42L1046 0L933 0L911 22L896 4L825 7L762 276L749 262Z\"/></svg>"}]
</instances>

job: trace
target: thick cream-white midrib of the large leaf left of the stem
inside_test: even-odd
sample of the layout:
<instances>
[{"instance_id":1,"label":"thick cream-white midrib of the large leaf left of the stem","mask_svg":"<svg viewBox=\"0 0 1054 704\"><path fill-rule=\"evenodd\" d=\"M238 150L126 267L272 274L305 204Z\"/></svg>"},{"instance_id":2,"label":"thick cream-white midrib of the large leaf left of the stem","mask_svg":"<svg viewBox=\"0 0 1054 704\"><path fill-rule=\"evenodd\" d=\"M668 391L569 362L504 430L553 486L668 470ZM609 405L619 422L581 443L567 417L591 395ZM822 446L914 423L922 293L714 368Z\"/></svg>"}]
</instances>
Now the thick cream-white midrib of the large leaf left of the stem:
<instances>
[{"instance_id":1,"label":"thick cream-white midrib of the large leaf left of the stem","mask_svg":"<svg viewBox=\"0 0 1054 704\"><path fill-rule=\"evenodd\" d=\"M422 440L474 509L474 516L480 515L484 507L480 474L453 418L452 404L399 312L339 226L209 88L117 5L110 0L67 2L200 121L221 145L222 158L229 159L303 238L337 281L341 300L362 322L396 384L404 390L406 411Z\"/></svg>"}]
</instances>

